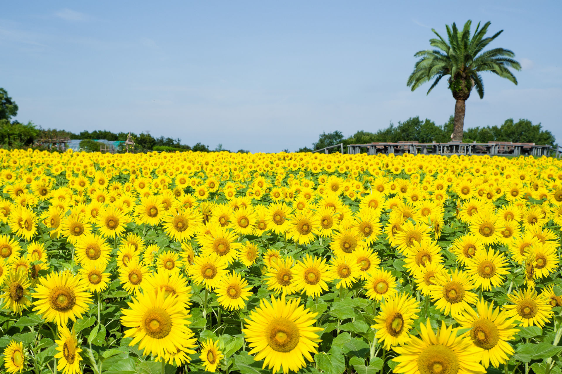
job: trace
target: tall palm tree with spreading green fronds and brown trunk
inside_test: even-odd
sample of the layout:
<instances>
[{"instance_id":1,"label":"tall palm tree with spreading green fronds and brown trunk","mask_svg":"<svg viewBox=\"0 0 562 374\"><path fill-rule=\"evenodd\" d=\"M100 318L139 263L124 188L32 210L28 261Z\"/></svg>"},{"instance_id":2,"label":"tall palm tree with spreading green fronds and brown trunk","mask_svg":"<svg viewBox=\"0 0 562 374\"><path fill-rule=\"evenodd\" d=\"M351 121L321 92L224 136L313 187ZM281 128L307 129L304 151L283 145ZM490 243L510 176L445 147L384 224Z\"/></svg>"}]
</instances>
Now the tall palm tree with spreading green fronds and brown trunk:
<instances>
[{"instance_id":1,"label":"tall palm tree with spreading green fronds and brown trunk","mask_svg":"<svg viewBox=\"0 0 562 374\"><path fill-rule=\"evenodd\" d=\"M484 97L484 84L480 72L490 71L502 78L509 79L517 84L517 80L509 67L520 70L521 65L515 61L515 53L509 49L494 48L482 52L492 40L496 39L504 30L498 31L491 37L484 38L490 22L486 22L482 29L480 23L470 36L472 21L466 21L463 31L459 32L453 23L447 26L448 43L432 29L438 39L430 39L429 44L437 49L420 50L414 57L422 57L414 66L414 72L408 78L407 85L412 91L432 79L429 94L437 86L442 77L449 75L449 89L456 100L455 104L455 130L453 140L463 140L465 101L470 96L473 87L480 98Z\"/></svg>"}]
</instances>

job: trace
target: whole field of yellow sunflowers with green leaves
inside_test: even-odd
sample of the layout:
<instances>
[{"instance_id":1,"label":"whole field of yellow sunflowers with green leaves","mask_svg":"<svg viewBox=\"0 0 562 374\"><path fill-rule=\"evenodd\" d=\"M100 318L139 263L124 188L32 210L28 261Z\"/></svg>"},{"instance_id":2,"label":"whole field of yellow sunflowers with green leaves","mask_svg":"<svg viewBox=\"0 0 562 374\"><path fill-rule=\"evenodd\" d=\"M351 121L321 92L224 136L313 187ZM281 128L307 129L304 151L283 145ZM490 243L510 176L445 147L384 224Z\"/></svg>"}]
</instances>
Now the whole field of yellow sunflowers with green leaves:
<instances>
[{"instance_id":1,"label":"whole field of yellow sunflowers with green leaves","mask_svg":"<svg viewBox=\"0 0 562 374\"><path fill-rule=\"evenodd\" d=\"M0 161L2 373L562 373L562 160Z\"/></svg>"}]
</instances>

